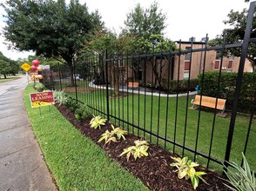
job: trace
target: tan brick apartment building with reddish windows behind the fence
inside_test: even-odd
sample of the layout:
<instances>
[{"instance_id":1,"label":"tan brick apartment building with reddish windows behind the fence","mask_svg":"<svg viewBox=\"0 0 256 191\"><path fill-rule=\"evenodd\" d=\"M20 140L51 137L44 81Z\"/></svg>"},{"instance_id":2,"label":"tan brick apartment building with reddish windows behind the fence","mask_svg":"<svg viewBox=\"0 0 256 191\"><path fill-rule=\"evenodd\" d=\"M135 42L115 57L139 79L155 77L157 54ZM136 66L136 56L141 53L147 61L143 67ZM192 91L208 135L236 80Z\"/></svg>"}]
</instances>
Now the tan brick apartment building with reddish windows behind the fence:
<instances>
[{"instance_id":1,"label":"tan brick apartment building with reddish windows behind the fence","mask_svg":"<svg viewBox=\"0 0 256 191\"><path fill-rule=\"evenodd\" d=\"M179 44L178 44L179 45ZM185 49L202 49L204 48L205 43L204 42L181 42L181 50ZM180 59L180 61L179 61ZM223 63L222 63L222 72L238 72L239 69L239 60L240 58L237 56L225 56L223 57ZM156 60L154 61L156 63L152 64L150 62L146 63L146 68L144 66L144 63L141 62L138 69L138 80L135 79L135 75L132 75L132 70L129 68L127 74L129 82L131 82L132 78L135 81L138 81L140 83L154 83L158 84L157 77L152 72L153 66L157 65L157 71L158 74L161 73L161 80L167 80L168 76L170 80L184 80L188 79L189 77L189 70L191 69L190 73L190 79L195 79L198 77L199 74L203 72L204 64L205 64L205 72L207 71L219 71L220 67L220 54L216 50L208 50L206 51L206 54L204 51L199 52L192 52L192 56L190 53L187 53L185 55L175 56L172 61L172 65L170 68L168 68L168 61L167 60ZM191 66L190 66L191 65ZM168 72L169 70L169 72ZM253 68L249 60L246 59L244 72L252 72ZM124 75L125 76L125 75ZM126 78L126 77L125 77ZM127 78L126 78L127 79ZM123 80L126 81L126 79L123 78ZM133 81L134 81L133 80ZM126 82L127 82L126 81ZM124 81L123 81L124 82Z\"/></svg>"}]
</instances>

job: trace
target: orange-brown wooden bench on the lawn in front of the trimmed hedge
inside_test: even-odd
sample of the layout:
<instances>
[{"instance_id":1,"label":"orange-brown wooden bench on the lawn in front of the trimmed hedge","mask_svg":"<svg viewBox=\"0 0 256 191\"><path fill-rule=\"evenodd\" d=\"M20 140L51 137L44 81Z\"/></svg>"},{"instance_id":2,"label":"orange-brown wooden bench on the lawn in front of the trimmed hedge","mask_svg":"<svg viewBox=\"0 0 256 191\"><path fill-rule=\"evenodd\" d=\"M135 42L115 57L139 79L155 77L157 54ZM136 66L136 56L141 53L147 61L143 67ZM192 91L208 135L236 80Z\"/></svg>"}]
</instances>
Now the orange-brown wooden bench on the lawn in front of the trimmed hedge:
<instances>
[{"instance_id":1,"label":"orange-brown wooden bench on the lawn in front of the trimmed hedge","mask_svg":"<svg viewBox=\"0 0 256 191\"><path fill-rule=\"evenodd\" d=\"M195 99L192 99L191 102L193 104L193 108L194 108L194 105L200 105L200 97L201 97L201 95L196 95ZM225 104L226 104L225 99L218 98L218 102L217 102L217 105L216 105L216 97L210 97L210 96L202 95L201 106L204 106L204 107L207 107L207 108L212 108L212 109L215 109L215 106L216 106L216 109L221 110L220 115L223 115L223 113L226 109Z\"/></svg>"}]
</instances>

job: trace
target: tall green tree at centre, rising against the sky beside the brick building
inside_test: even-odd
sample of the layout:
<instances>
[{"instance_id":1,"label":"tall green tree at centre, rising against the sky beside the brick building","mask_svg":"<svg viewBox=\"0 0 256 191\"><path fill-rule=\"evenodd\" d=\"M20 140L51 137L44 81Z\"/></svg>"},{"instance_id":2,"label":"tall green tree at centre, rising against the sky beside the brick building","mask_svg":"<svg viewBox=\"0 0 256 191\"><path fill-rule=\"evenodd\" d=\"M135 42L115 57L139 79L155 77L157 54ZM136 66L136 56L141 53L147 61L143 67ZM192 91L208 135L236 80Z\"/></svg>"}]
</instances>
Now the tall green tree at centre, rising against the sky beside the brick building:
<instances>
[{"instance_id":1,"label":"tall green tree at centre, rising against the sky beside the brick building","mask_svg":"<svg viewBox=\"0 0 256 191\"><path fill-rule=\"evenodd\" d=\"M125 21L125 32L136 38L134 41L133 52L138 54L152 54L167 52L175 49L175 44L164 37L166 15L159 10L158 3L154 2L148 9L143 9L138 4L134 10L127 14ZM155 59L162 59L161 62L155 62ZM152 69L155 76L155 83L162 86L162 69L165 67L165 57L156 56L149 60L152 63ZM161 63L161 64L159 64ZM134 80L138 81L138 63L131 63Z\"/></svg>"}]
</instances>

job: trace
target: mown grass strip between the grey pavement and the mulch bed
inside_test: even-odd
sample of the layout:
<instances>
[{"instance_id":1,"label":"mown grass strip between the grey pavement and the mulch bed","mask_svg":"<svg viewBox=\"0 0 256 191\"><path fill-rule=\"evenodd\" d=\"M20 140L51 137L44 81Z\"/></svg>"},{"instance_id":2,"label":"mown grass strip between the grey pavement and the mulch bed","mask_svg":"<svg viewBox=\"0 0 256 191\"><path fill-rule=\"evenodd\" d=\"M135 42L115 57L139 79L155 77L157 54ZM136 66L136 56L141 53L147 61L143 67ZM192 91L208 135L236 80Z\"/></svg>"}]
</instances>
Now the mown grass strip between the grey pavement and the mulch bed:
<instances>
[{"instance_id":1,"label":"mown grass strip between the grey pavement and the mulch bed","mask_svg":"<svg viewBox=\"0 0 256 191\"><path fill-rule=\"evenodd\" d=\"M141 181L104 154L90 139L51 106L30 108L28 86L24 102L45 161L60 190L148 190Z\"/></svg>"}]
</instances>

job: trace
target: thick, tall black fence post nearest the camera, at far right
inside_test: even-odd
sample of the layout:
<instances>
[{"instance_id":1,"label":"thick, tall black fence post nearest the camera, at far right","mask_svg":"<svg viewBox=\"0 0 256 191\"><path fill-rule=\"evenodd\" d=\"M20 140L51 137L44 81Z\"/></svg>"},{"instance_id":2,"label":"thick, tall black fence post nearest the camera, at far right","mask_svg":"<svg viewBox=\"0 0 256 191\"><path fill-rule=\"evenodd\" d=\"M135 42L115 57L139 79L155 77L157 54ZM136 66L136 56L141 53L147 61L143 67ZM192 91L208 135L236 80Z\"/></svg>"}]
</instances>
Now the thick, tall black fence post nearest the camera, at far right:
<instances>
[{"instance_id":1,"label":"thick, tall black fence post nearest the camera, at far right","mask_svg":"<svg viewBox=\"0 0 256 191\"><path fill-rule=\"evenodd\" d=\"M225 161L224 161L224 169L226 169L226 167L228 166L227 161L230 160L230 154L231 154L231 148L232 148L232 135L233 135L234 125L235 125L235 120L237 115L239 93L240 93L241 84L242 84L243 75L244 75L246 53L247 53L248 44L250 41L251 30L253 27L254 9L255 9L255 2L252 2L250 3L250 8L248 11L246 31L245 31L244 41L242 43L242 52L241 52L240 61L239 61L239 71L238 71L236 89L235 89L233 104L232 104L232 115L231 115L231 121L229 125L228 138L226 142L226 155L225 155Z\"/></svg>"}]
</instances>

